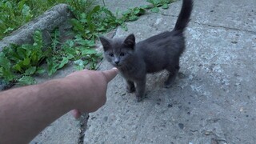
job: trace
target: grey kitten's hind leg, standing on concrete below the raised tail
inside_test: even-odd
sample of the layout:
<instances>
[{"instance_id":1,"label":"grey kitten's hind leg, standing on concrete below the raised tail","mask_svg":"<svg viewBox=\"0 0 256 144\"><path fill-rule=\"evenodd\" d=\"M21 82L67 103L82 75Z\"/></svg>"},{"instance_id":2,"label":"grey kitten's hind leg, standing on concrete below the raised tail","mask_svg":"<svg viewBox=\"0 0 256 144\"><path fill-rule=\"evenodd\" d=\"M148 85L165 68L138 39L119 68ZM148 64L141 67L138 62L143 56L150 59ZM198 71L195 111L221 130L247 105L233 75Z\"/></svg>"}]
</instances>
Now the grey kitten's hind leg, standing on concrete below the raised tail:
<instances>
[{"instance_id":1,"label":"grey kitten's hind leg, standing on concrete below the raised tail","mask_svg":"<svg viewBox=\"0 0 256 144\"><path fill-rule=\"evenodd\" d=\"M169 76L165 82L165 87L169 88L175 81L175 78L177 77L179 66L170 66L166 70L169 71Z\"/></svg>"}]
</instances>

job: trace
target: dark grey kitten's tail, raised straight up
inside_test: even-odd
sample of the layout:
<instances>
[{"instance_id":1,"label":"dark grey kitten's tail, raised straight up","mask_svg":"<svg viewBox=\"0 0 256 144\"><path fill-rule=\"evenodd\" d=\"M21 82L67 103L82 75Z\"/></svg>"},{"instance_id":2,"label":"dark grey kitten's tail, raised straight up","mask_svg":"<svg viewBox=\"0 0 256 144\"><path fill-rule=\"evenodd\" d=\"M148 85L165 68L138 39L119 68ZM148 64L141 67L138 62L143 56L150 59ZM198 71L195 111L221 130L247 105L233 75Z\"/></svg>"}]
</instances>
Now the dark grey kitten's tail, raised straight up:
<instances>
[{"instance_id":1,"label":"dark grey kitten's tail, raised straight up","mask_svg":"<svg viewBox=\"0 0 256 144\"><path fill-rule=\"evenodd\" d=\"M183 0L182 10L178 15L178 20L174 27L174 30L181 30L182 32L190 22L190 15L193 9L193 0Z\"/></svg>"}]
</instances>

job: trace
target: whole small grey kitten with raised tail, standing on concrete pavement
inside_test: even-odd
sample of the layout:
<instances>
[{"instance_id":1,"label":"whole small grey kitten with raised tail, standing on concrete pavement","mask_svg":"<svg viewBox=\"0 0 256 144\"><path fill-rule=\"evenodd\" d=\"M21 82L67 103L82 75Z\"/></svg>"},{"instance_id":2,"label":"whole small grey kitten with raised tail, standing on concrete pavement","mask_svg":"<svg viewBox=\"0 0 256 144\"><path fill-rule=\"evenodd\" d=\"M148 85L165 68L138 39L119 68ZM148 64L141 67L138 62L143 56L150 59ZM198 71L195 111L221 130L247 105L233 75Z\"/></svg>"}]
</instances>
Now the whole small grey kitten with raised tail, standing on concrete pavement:
<instances>
[{"instance_id":1,"label":"whole small grey kitten with raised tail, standing on concrete pavement","mask_svg":"<svg viewBox=\"0 0 256 144\"><path fill-rule=\"evenodd\" d=\"M127 91L136 91L138 102L145 95L147 73L168 70L165 87L170 87L174 82L179 70L179 58L185 50L183 31L190 21L192 9L193 0L183 0L174 30L154 35L142 42L135 43L134 34L125 39L100 37L106 60L117 67L126 79Z\"/></svg>"}]
</instances>

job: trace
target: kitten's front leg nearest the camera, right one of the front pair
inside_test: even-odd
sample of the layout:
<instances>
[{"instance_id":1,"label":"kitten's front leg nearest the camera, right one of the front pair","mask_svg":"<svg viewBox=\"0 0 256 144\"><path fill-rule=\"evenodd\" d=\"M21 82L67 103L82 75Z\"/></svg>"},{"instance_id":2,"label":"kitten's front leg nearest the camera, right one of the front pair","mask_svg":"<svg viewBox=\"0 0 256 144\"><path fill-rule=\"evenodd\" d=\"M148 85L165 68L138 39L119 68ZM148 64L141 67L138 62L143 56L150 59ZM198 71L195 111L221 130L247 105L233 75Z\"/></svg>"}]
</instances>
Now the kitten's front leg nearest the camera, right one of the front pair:
<instances>
[{"instance_id":1,"label":"kitten's front leg nearest the camera, right one of the front pair","mask_svg":"<svg viewBox=\"0 0 256 144\"><path fill-rule=\"evenodd\" d=\"M146 78L142 78L136 83L136 98L138 102L141 102L145 97Z\"/></svg>"}]
</instances>

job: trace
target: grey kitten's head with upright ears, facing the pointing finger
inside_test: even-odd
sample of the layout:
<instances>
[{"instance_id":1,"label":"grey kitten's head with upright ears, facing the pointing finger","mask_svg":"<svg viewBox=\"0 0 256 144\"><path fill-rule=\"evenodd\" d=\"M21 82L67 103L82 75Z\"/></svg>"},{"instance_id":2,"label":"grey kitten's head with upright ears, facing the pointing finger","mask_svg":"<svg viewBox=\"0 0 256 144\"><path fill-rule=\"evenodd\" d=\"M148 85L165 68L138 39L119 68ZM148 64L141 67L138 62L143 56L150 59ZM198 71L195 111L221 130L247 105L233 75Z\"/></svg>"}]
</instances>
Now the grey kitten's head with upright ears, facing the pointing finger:
<instances>
[{"instance_id":1,"label":"grey kitten's head with upright ears, facing the pointing finger","mask_svg":"<svg viewBox=\"0 0 256 144\"><path fill-rule=\"evenodd\" d=\"M113 66L122 67L133 58L135 37L130 34L125 39L107 39L100 37L105 58Z\"/></svg>"}]
</instances>

